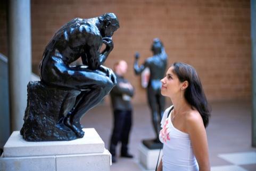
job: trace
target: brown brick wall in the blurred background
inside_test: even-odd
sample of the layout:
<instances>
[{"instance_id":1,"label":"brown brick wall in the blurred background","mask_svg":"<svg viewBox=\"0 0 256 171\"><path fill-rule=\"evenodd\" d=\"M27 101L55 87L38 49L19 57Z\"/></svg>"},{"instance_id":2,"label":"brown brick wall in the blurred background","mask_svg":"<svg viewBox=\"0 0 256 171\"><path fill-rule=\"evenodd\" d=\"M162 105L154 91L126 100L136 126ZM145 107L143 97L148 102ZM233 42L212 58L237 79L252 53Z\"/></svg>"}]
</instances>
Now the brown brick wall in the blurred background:
<instances>
[{"instance_id":1,"label":"brown brick wall in the blurred background","mask_svg":"<svg viewBox=\"0 0 256 171\"><path fill-rule=\"evenodd\" d=\"M249 0L33 0L33 71L38 73L47 42L65 22L105 12L115 13L120 21L120 29L113 36L113 52L105 65L112 67L119 59L128 62L126 76L136 87L134 103L146 103L140 77L133 72L134 53L141 53L142 63L152 55L155 37L163 41L169 65L180 61L195 67L209 100L251 97Z\"/></svg>"}]
</instances>

